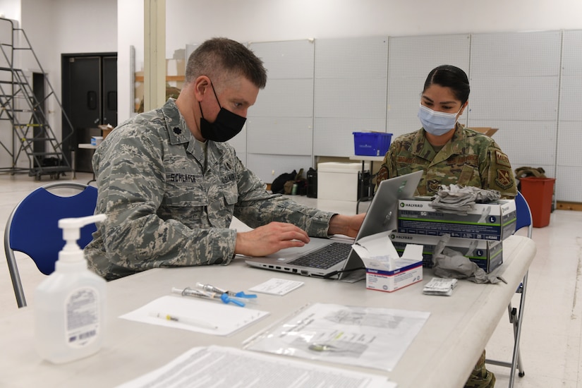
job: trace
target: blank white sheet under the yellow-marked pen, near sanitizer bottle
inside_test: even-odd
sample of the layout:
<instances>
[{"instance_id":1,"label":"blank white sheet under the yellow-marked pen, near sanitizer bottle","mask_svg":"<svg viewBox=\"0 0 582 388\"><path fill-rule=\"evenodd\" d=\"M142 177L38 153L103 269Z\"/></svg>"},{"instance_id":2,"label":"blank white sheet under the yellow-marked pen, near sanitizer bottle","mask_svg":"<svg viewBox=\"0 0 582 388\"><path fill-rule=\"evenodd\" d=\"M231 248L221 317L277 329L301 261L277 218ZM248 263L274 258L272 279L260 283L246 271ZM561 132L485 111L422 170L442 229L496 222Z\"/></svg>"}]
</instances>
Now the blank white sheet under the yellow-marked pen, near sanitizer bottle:
<instances>
[{"instance_id":1,"label":"blank white sheet under the yellow-marked pen, near sanitizer bottle","mask_svg":"<svg viewBox=\"0 0 582 388\"><path fill-rule=\"evenodd\" d=\"M173 315L184 317L186 320L203 320L216 329L210 329L199 325L173 322L155 317L157 313L163 315ZM236 305L225 305L222 301L205 301L202 299L162 296L137 310L121 315L120 318L137 322L151 323L166 327L176 327L178 329L190 330L214 335L229 335L250 325L256 320L269 315L266 311L254 310L252 308L240 307Z\"/></svg>"}]
</instances>

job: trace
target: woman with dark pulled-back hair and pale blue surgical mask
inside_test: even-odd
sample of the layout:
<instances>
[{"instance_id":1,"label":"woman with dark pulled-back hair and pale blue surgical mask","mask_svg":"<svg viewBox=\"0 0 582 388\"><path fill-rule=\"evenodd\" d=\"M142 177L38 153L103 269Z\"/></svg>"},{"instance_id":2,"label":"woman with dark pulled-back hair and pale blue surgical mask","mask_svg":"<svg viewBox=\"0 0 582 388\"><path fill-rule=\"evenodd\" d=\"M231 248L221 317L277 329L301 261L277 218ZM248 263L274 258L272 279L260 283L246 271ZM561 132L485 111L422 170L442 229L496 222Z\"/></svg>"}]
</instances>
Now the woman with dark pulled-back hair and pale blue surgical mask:
<instances>
[{"instance_id":1,"label":"woman with dark pulled-back hair and pale blue surgical mask","mask_svg":"<svg viewBox=\"0 0 582 388\"><path fill-rule=\"evenodd\" d=\"M499 190L502 197L514 198L516 184L507 155L489 136L457 122L468 105L469 91L467 75L460 68L442 65L432 69L418 107L423 128L394 140L377 183L423 170L417 195L433 195L441 185L458 184ZM465 387L494 386L495 375L485 368L483 351Z\"/></svg>"}]
</instances>

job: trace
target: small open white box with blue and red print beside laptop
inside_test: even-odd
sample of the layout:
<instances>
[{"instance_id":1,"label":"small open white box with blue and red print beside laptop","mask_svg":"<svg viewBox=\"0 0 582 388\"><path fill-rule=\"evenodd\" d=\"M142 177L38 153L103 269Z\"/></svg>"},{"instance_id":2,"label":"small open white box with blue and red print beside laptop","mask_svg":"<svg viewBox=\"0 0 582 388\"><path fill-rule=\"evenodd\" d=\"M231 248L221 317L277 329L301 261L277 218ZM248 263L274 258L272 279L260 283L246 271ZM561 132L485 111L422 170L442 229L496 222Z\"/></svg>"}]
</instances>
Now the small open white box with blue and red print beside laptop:
<instances>
[{"instance_id":1,"label":"small open white box with blue and red print beside laptop","mask_svg":"<svg viewBox=\"0 0 582 388\"><path fill-rule=\"evenodd\" d=\"M400 257L382 232L352 245L366 267L366 289L393 292L423 280L423 246L408 244Z\"/></svg>"}]
</instances>

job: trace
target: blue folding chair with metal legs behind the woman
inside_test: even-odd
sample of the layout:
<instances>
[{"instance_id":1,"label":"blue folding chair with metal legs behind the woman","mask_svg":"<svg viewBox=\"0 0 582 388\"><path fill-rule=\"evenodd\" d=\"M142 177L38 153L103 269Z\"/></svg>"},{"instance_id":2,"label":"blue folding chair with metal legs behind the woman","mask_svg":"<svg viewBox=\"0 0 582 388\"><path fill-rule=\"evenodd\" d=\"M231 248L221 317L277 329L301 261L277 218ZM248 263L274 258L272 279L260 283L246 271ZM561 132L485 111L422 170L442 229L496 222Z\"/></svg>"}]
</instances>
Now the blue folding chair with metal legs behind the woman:
<instances>
[{"instance_id":1,"label":"blue folding chair with metal legs behind the woman","mask_svg":"<svg viewBox=\"0 0 582 388\"><path fill-rule=\"evenodd\" d=\"M528 228L527 236L531 238L531 234L533 231L533 224L531 219L531 210L526 201L526 198L523 198L523 195L518 191L516 198L515 198L515 205L516 205L516 231L519 229ZM511 358L511 363L504 362L504 361L497 361L497 360L485 360L485 363L489 363L492 365L499 365L510 368L511 371L509 372L509 388L514 386L514 377L516 369L519 370L519 377L523 377L526 375L526 372L523 370L523 363L521 363L521 352L519 349L519 340L521 339L521 322L523 320L523 306L526 303L526 289L528 286L528 272L523 276L523 280L519 285L516 293L520 293L519 299L519 310L511 306L511 302L507 306L507 310L509 312L509 322L514 325L514 352Z\"/></svg>"}]
</instances>

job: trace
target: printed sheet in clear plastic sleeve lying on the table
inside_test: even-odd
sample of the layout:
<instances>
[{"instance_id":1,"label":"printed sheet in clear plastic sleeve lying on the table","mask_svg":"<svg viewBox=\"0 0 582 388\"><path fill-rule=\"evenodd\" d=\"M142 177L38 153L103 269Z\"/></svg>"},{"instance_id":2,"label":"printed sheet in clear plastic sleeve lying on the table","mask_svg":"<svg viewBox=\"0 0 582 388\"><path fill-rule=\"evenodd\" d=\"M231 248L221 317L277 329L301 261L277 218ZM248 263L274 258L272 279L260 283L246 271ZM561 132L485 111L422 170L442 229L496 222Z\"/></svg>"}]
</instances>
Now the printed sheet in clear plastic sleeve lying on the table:
<instances>
[{"instance_id":1,"label":"printed sheet in clear plastic sleeve lying on the table","mask_svg":"<svg viewBox=\"0 0 582 388\"><path fill-rule=\"evenodd\" d=\"M391 371L430 313L315 303L245 348Z\"/></svg>"}]
</instances>

